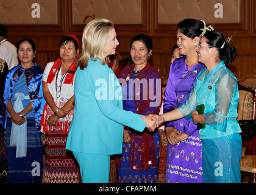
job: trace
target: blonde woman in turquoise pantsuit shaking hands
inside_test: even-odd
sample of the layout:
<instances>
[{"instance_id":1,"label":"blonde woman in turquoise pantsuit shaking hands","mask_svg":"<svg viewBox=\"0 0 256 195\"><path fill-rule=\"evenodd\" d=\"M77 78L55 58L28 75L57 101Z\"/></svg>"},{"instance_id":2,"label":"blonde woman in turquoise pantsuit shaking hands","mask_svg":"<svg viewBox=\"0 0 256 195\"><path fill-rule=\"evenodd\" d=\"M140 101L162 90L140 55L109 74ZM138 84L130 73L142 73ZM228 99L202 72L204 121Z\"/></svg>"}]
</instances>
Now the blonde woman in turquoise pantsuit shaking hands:
<instances>
[{"instance_id":1,"label":"blonde woman in turquoise pantsuit shaking hands","mask_svg":"<svg viewBox=\"0 0 256 195\"><path fill-rule=\"evenodd\" d=\"M66 149L76 157L82 182L107 183L110 155L121 154L124 126L143 132L158 122L123 110L121 86L108 66L118 40L113 24L94 19L84 29L83 50L77 59L74 116Z\"/></svg>"}]
</instances>

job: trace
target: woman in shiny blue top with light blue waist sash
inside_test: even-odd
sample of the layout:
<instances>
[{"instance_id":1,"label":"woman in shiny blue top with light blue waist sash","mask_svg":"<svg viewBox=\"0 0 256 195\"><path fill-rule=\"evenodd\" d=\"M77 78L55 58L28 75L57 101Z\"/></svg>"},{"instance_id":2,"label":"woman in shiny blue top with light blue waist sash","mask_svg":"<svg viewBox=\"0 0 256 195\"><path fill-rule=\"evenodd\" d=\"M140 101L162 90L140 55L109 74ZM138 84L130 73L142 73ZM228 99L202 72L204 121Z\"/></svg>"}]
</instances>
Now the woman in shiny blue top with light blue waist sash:
<instances>
[{"instance_id":1,"label":"woman in shiny blue top with light blue waist sash","mask_svg":"<svg viewBox=\"0 0 256 195\"><path fill-rule=\"evenodd\" d=\"M43 68L33 63L35 43L29 38L17 44L21 64L7 74L1 126L6 129L9 183L41 183L43 142L40 121L43 98Z\"/></svg>"}]
</instances>

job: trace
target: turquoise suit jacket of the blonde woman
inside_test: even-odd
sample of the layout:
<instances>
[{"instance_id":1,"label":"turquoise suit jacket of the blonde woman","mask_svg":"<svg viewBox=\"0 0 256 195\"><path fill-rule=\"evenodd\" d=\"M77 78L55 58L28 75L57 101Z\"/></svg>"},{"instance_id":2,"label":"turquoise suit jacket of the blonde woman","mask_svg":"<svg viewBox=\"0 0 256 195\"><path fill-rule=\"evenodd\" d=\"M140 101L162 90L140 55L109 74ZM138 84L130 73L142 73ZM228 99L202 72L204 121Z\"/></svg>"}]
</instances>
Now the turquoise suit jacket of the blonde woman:
<instances>
[{"instance_id":1,"label":"turquoise suit jacket of the blonde woman","mask_svg":"<svg viewBox=\"0 0 256 195\"><path fill-rule=\"evenodd\" d=\"M140 115L123 110L121 85L108 65L90 59L77 69L74 116L66 149L90 154L121 154L124 126L143 132Z\"/></svg>"}]
</instances>

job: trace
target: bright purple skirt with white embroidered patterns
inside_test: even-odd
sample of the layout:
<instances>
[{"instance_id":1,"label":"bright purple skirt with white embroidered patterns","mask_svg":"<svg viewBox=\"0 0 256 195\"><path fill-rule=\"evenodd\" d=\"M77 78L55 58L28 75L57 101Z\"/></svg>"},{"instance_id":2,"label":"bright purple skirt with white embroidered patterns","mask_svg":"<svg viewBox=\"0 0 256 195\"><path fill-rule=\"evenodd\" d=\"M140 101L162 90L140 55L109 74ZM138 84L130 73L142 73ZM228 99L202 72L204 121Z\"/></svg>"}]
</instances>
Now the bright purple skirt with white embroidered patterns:
<instances>
[{"instance_id":1,"label":"bright purple skirt with white embroidered patterns","mask_svg":"<svg viewBox=\"0 0 256 195\"><path fill-rule=\"evenodd\" d=\"M199 131L179 146L168 143L166 156L166 183L202 183L202 142Z\"/></svg>"}]
</instances>

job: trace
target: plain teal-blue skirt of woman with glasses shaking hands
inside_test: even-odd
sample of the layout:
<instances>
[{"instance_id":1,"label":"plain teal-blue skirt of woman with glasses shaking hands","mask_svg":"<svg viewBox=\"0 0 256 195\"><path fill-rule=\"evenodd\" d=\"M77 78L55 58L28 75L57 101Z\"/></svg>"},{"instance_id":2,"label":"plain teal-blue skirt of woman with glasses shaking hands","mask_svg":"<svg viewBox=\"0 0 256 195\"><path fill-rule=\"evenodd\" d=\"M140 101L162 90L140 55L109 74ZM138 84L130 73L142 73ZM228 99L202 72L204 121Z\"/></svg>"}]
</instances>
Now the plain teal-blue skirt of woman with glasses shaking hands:
<instances>
[{"instance_id":1,"label":"plain teal-blue skirt of woman with glasses shaking hands","mask_svg":"<svg viewBox=\"0 0 256 195\"><path fill-rule=\"evenodd\" d=\"M241 183L242 140L239 133L202 139L204 183Z\"/></svg>"}]
</instances>

